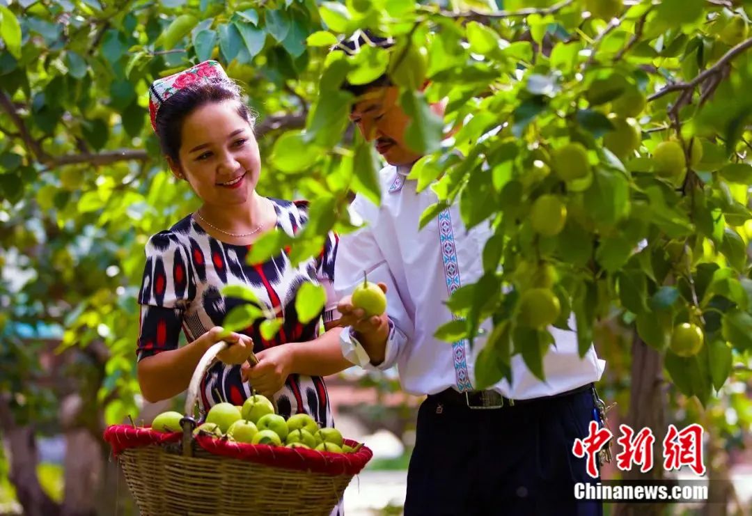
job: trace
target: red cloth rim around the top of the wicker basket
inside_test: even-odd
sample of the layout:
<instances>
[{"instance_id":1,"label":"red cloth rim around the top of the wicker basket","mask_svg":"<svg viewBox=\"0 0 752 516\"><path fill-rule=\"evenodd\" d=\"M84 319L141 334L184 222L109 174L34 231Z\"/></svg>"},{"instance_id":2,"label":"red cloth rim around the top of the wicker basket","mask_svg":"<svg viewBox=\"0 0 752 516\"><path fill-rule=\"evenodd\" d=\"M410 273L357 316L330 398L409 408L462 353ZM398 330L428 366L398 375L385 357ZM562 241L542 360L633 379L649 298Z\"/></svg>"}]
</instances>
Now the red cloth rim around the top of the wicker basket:
<instances>
[{"instance_id":1,"label":"red cloth rim around the top of the wicker basket","mask_svg":"<svg viewBox=\"0 0 752 516\"><path fill-rule=\"evenodd\" d=\"M148 445L163 445L180 442L180 432L162 433L149 427L135 428L130 425L112 425L105 429L105 441L109 443L115 457L130 448ZM247 445L217 439L211 436L196 436L196 442L211 454L271 466L274 468L297 469L323 473L325 475L357 475L371 460L373 452L363 446L350 454L335 454L329 451L308 450L305 448L284 448L269 445ZM344 439L345 444L358 443Z\"/></svg>"}]
</instances>

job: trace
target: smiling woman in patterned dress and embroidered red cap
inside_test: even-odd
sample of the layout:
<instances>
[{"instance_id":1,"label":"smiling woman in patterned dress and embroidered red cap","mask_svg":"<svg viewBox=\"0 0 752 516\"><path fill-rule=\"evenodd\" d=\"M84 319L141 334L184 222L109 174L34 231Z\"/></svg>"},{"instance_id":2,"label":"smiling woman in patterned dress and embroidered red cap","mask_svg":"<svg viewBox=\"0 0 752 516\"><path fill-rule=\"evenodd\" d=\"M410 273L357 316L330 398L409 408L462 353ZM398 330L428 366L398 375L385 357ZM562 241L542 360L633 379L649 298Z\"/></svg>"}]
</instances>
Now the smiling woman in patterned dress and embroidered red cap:
<instances>
[{"instance_id":1,"label":"smiling woman in patterned dress and embroidered red cap","mask_svg":"<svg viewBox=\"0 0 752 516\"><path fill-rule=\"evenodd\" d=\"M138 338L144 398L168 399L186 390L205 351L225 340L231 346L202 381L202 411L223 401L241 405L256 390L273 399L284 417L305 412L332 426L321 377L350 366L339 348L341 329L319 335L318 318L298 320L295 299L305 282L322 284L329 299L324 313L332 313L336 236L329 235L320 256L297 266L284 252L265 263L246 263L265 232L277 228L293 235L304 225L308 206L256 193L261 161L254 120L219 63L156 80L150 115L172 173L202 205L146 246ZM241 332L223 330L226 314L244 302L223 296L226 285L250 288L261 308L276 311L283 323L274 338L262 338L261 320ZM189 344L179 348L180 329ZM253 367L244 363L251 349L259 359Z\"/></svg>"}]
</instances>

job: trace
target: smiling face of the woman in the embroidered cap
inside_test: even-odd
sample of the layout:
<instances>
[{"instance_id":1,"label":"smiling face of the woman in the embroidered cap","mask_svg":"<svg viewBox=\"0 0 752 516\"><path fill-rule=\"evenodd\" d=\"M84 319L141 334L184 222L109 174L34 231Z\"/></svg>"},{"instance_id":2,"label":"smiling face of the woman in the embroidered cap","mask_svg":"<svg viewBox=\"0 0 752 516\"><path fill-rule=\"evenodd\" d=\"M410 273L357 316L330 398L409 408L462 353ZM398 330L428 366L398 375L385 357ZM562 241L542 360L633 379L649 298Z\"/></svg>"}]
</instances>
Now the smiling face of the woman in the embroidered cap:
<instances>
[{"instance_id":1,"label":"smiling face of the woman in the embroidered cap","mask_svg":"<svg viewBox=\"0 0 752 516\"><path fill-rule=\"evenodd\" d=\"M179 164L170 160L172 171L207 204L242 204L259 181L259 146L236 101L211 102L188 115L179 156Z\"/></svg>"}]
</instances>

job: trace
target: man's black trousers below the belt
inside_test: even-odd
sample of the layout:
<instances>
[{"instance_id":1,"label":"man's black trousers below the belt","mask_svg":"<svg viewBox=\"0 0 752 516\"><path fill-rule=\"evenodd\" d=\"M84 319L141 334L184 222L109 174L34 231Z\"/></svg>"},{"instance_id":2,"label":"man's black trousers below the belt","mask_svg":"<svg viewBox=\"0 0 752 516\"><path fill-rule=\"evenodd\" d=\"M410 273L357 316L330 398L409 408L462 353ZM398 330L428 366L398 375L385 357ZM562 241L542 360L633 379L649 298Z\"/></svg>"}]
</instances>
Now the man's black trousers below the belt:
<instances>
[{"instance_id":1,"label":"man's black trousers below the belt","mask_svg":"<svg viewBox=\"0 0 752 516\"><path fill-rule=\"evenodd\" d=\"M405 516L602 516L575 499L596 482L572 454L593 420L590 390L528 404L474 410L429 396L420 405Z\"/></svg>"}]
</instances>

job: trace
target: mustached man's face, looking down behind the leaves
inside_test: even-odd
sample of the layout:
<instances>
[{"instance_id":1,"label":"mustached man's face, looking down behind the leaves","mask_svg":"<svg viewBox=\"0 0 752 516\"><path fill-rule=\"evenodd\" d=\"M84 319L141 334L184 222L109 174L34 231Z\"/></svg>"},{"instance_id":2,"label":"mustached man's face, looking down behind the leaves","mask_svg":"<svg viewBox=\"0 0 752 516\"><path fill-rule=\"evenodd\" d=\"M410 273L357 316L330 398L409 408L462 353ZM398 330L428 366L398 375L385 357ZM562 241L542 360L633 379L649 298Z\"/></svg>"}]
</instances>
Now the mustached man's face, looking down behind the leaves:
<instances>
[{"instance_id":1,"label":"mustached man's face, looking down behind the leaves","mask_svg":"<svg viewBox=\"0 0 752 516\"><path fill-rule=\"evenodd\" d=\"M350 113L366 141L374 141L376 150L390 165L411 165L420 159L405 144L405 129L410 117L397 104L397 87L374 87L364 93Z\"/></svg>"}]
</instances>

